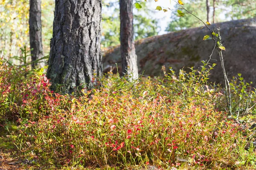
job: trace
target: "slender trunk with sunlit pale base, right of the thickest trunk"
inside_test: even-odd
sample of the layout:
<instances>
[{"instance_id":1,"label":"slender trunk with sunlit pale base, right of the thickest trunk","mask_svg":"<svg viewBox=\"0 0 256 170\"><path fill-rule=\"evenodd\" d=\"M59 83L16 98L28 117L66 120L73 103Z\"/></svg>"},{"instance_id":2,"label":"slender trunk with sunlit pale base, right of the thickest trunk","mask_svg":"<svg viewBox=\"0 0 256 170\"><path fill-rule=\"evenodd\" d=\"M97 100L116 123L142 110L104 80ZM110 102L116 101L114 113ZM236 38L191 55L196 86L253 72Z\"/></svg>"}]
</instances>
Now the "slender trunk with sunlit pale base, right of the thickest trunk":
<instances>
[{"instance_id":1,"label":"slender trunk with sunlit pale base, right of the thickest trunk","mask_svg":"<svg viewBox=\"0 0 256 170\"><path fill-rule=\"evenodd\" d=\"M137 55L134 45L133 0L120 0L120 42L122 74L138 78Z\"/></svg>"}]
</instances>

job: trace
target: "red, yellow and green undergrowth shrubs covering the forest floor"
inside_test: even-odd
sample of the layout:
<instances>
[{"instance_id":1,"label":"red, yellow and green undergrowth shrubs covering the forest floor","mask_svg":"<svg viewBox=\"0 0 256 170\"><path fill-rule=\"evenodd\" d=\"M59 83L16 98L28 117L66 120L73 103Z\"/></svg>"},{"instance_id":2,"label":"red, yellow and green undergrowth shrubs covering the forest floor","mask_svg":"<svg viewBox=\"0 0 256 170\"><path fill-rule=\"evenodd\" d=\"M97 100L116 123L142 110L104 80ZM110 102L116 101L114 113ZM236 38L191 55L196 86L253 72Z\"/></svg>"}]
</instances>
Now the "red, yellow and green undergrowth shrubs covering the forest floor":
<instances>
[{"instance_id":1,"label":"red, yellow and green undergrowth shrubs covering the forest floor","mask_svg":"<svg viewBox=\"0 0 256 170\"><path fill-rule=\"evenodd\" d=\"M0 63L0 146L29 156L35 169L254 169L255 92L234 79L237 114L229 116L211 70L203 62L176 76L163 67L163 78L134 82L110 73L97 89L63 95L44 69Z\"/></svg>"}]
</instances>

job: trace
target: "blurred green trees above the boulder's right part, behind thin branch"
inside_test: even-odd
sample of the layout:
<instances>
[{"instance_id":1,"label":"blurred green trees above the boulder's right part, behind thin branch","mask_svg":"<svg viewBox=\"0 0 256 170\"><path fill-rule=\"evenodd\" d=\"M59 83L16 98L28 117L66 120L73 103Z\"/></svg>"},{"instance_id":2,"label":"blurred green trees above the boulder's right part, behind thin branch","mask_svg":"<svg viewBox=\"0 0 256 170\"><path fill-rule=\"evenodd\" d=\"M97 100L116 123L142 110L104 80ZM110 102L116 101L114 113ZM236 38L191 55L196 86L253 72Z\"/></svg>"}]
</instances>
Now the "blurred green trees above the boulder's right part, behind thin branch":
<instances>
[{"instance_id":1,"label":"blurred green trees above the boulder's right part, behind thin branch","mask_svg":"<svg viewBox=\"0 0 256 170\"><path fill-rule=\"evenodd\" d=\"M256 17L256 1L247 0L208 0L209 17L211 23L219 23L230 20L238 20ZM186 3L186 9L203 21L207 21L207 3L205 0L189 0ZM175 8L179 8L175 5ZM198 10L200 9L200 10ZM186 13L186 12L185 12ZM192 15L177 16L177 11L173 10L171 14L172 22L166 28L166 31L177 31L186 28L203 26L202 23Z\"/></svg>"}]
</instances>

